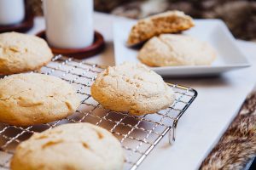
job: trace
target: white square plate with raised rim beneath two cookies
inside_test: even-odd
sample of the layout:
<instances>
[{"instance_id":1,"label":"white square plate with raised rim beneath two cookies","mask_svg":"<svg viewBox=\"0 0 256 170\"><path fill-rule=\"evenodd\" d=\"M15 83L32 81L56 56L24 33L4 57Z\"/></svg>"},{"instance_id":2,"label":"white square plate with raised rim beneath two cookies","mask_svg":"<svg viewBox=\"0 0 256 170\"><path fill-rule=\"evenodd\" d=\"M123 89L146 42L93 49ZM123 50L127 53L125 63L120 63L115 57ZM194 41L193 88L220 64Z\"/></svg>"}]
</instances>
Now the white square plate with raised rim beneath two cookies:
<instances>
[{"instance_id":1,"label":"white square plate with raised rim beneath two cookies","mask_svg":"<svg viewBox=\"0 0 256 170\"><path fill-rule=\"evenodd\" d=\"M137 49L128 48L125 42L135 20L115 22L113 26L115 65L125 61L140 62L137 59ZM208 42L217 51L217 59L212 65L200 66L163 66L151 67L161 76L191 77L214 76L220 73L250 66L244 54L236 46L236 39L231 35L222 20L195 20L195 27L184 31L201 41Z\"/></svg>"}]
</instances>

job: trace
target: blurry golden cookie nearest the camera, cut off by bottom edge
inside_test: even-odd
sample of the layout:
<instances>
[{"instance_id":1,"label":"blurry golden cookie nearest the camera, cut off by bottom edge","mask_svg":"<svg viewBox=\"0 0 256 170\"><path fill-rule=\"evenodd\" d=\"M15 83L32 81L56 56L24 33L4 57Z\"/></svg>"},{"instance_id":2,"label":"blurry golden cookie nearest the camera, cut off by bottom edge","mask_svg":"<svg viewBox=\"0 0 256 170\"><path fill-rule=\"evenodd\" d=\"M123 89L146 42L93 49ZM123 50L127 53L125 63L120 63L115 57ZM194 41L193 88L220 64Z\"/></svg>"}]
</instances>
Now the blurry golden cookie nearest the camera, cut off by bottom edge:
<instances>
[{"instance_id":1,"label":"blurry golden cookie nearest the camera, cut off by bottom edge","mask_svg":"<svg viewBox=\"0 0 256 170\"><path fill-rule=\"evenodd\" d=\"M12 170L121 170L124 154L118 139L90 123L64 124L35 133L20 143Z\"/></svg>"}]
</instances>

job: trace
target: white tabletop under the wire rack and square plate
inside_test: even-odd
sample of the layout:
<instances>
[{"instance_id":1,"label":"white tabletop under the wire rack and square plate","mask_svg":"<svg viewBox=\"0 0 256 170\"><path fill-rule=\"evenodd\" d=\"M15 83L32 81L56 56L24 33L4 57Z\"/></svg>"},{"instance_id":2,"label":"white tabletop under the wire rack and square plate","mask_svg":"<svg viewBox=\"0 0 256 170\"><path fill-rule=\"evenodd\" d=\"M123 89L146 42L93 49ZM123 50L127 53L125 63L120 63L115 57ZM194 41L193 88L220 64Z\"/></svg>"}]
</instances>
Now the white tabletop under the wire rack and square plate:
<instances>
[{"instance_id":1,"label":"white tabletop under the wire rack and square plate","mask_svg":"<svg viewBox=\"0 0 256 170\"><path fill-rule=\"evenodd\" d=\"M90 63L114 65L113 22L127 20L108 14L94 15L95 28L102 32L107 48L102 54L89 59ZM35 19L35 27L29 33L35 34L44 29L44 18ZM195 88L198 98L177 125L177 141L168 144L167 136L143 161L138 169L196 169L236 116L247 94L253 89L256 77L256 45L253 42L238 41L252 66L240 71L232 71L222 77L168 79Z\"/></svg>"}]
</instances>

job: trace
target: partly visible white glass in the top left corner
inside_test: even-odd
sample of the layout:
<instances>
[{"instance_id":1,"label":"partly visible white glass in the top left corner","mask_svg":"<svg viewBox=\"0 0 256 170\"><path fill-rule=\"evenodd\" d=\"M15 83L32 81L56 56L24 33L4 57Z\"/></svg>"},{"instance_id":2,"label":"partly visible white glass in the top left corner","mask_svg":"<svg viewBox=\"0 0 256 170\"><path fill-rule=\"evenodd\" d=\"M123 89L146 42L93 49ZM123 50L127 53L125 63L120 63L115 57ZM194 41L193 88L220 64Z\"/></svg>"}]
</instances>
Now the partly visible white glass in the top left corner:
<instances>
[{"instance_id":1,"label":"partly visible white glass in the top left corner","mask_svg":"<svg viewBox=\"0 0 256 170\"><path fill-rule=\"evenodd\" d=\"M0 0L0 25L12 25L25 18L23 0Z\"/></svg>"}]
</instances>

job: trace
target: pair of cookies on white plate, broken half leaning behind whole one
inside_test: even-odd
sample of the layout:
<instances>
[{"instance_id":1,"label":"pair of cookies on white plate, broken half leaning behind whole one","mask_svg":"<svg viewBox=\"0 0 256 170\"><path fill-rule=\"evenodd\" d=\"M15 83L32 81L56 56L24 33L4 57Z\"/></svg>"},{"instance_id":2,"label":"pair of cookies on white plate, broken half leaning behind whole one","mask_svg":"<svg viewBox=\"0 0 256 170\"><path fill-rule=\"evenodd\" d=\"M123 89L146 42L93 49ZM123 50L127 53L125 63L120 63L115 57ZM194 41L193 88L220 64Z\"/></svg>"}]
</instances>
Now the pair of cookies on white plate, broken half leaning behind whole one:
<instances>
[{"instance_id":1,"label":"pair of cookies on white plate, broken half leaning behind whole one","mask_svg":"<svg viewBox=\"0 0 256 170\"><path fill-rule=\"evenodd\" d=\"M193 26L193 19L181 11L156 14L137 21L127 45L145 42L137 58L148 66L211 65L215 50L207 42L181 34Z\"/></svg>"}]
</instances>

